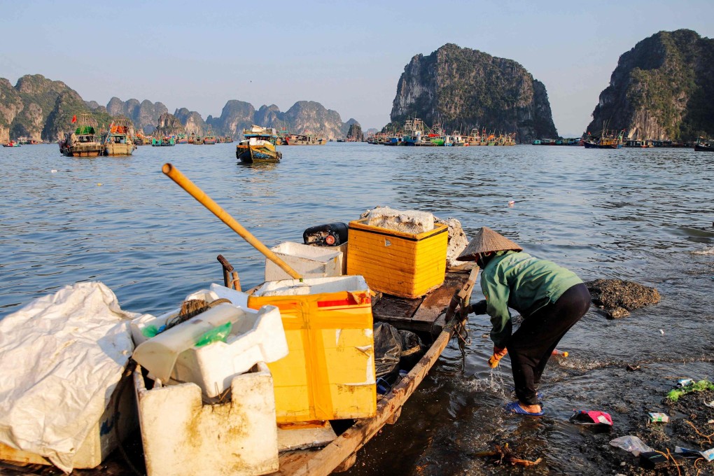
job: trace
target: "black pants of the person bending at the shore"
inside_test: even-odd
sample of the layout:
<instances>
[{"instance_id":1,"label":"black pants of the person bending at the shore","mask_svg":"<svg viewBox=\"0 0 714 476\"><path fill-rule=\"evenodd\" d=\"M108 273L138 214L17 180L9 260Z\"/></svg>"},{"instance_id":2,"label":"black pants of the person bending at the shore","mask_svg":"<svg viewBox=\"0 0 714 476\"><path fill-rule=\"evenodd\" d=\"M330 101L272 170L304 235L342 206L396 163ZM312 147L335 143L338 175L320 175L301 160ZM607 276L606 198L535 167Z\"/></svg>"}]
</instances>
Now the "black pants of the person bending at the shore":
<instances>
[{"instance_id":1,"label":"black pants of the person bending at the shore","mask_svg":"<svg viewBox=\"0 0 714 476\"><path fill-rule=\"evenodd\" d=\"M585 284L576 284L523 320L508 340L516 396L525 405L538 405L535 388L555 346L590 308L590 293Z\"/></svg>"}]
</instances>

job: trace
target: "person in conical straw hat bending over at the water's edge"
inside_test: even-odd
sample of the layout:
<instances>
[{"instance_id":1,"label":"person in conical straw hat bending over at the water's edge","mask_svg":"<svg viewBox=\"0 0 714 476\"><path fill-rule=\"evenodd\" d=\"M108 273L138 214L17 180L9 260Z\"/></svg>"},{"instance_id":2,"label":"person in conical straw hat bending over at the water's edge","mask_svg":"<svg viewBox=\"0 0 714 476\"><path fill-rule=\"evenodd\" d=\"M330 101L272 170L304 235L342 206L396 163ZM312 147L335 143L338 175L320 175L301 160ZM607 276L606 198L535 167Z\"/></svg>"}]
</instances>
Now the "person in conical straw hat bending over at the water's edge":
<instances>
[{"instance_id":1,"label":"person in conical straw hat bending over at the water's edge","mask_svg":"<svg viewBox=\"0 0 714 476\"><path fill-rule=\"evenodd\" d=\"M547 260L523 253L523 248L490 228L483 227L456 258L476 261L481 267L481 290L486 300L471 305L476 314L491 316L495 368L511 354L516 402L506 410L520 415L543 415L538 383L551 353L563 335L590 308L590 293L575 273ZM513 333L511 313L523 316Z\"/></svg>"}]
</instances>

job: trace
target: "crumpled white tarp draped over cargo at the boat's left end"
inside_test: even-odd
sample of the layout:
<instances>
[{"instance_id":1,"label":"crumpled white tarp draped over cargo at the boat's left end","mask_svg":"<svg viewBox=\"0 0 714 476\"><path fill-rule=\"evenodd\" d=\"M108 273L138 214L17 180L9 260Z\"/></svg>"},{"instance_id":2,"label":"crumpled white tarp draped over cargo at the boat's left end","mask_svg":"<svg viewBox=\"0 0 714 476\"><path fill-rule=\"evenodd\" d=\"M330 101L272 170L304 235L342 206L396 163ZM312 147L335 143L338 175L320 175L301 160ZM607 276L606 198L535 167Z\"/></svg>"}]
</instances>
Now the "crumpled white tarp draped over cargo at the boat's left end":
<instances>
[{"instance_id":1,"label":"crumpled white tarp draped over cargo at the boat's left end","mask_svg":"<svg viewBox=\"0 0 714 476\"><path fill-rule=\"evenodd\" d=\"M0 442L71 472L134 344L116 295L98 282L37 298L0 320Z\"/></svg>"}]
</instances>

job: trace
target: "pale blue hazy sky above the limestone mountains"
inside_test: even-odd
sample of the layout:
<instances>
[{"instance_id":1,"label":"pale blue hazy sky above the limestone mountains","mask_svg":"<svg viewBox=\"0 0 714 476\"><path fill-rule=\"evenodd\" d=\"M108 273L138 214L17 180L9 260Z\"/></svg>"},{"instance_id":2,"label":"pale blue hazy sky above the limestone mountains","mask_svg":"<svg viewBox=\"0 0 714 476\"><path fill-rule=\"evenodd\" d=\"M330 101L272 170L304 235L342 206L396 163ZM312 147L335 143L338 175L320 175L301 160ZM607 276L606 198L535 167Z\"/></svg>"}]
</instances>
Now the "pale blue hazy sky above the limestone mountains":
<instances>
[{"instance_id":1,"label":"pale blue hazy sky above the limestone mountains","mask_svg":"<svg viewBox=\"0 0 714 476\"><path fill-rule=\"evenodd\" d=\"M584 3L584 2L583 2ZM579 136L618 58L658 31L714 34L714 1L11 1L0 77L64 81L86 101L161 101L203 118L228 99L318 101L364 129L389 121L412 56L446 43L522 64Z\"/></svg>"}]
</instances>

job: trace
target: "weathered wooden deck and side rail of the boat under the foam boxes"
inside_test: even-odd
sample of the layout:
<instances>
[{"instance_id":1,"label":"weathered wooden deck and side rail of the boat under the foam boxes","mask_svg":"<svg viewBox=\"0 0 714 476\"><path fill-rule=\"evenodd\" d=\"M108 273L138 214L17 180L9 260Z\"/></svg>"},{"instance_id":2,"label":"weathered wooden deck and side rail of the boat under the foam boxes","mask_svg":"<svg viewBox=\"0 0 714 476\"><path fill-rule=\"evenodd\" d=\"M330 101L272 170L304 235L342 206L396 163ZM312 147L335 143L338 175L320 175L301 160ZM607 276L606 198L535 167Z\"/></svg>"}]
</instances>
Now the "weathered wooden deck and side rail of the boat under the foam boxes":
<instances>
[{"instance_id":1,"label":"weathered wooden deck and side rail of the boat under the foam boxes","mask_svg":"<svg viewBox=\"0 0 714 476\"><path fill-rule=\"evenodd\" d=\"M340 420L338 424L342 425L344 430L338 431L336 440L325 447L281 452L280 470L271 476L329 475L331 472L348 470L356 462L358 450L366 445L384 425L393 425L398 420L402 406L436 363L458 328L458 323L466 317L463 309L459 313L457 307L468 302L473 285L476 283L478 268L470 268L467 266L450 270L446 273L443 285L423 298L406 299L383 295L373 305L375 321L391 323L398 329L412 330L421 335L431 335L426 354L389 393L378 400L374 417ZM139 430L128 435L123 446L131 465L141 472L144 469L144 455ZM0 473L49 476L59 474L59 470L53 466L0 460ZM118 449L112 452L99 467L91 470L74 470L72 474L119 476L134 474L134 471Z\"/></svg>"}]
</instances>

